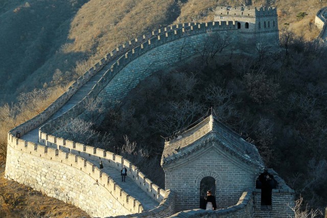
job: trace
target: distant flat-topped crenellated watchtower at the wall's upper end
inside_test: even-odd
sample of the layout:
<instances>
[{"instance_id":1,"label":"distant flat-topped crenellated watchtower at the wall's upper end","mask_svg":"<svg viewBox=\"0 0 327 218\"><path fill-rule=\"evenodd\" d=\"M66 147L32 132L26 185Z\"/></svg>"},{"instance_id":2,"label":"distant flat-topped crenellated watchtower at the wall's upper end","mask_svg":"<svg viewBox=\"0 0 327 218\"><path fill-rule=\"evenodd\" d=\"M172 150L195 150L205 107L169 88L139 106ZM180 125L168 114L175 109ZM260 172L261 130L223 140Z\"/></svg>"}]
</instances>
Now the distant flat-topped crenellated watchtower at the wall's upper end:
<instances>
[{"instance_id":1,"label":"distant flat-topped crenellated watchtower at the wall's upper end","mask_svg":"<svg viewBox=\"0 0 327 218\"><path fill-rule=\"evenodd\" d=\"M214 20L235 22L245 40L273 45L279 42L276 8L219 6Z\"/></svg>"}]
</instances>

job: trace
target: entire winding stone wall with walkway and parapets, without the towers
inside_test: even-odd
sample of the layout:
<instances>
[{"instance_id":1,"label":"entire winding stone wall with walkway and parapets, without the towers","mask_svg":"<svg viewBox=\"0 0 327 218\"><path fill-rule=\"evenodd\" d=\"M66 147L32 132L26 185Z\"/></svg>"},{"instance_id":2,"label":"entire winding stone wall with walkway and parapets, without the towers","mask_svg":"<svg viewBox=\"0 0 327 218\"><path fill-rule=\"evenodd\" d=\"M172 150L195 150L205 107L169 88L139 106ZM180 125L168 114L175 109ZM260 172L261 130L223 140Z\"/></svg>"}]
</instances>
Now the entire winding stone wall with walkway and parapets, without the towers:
<instances>
[{"instance_id":1,"label":"entire winding stone wall with walkway and parapets, without the towers","mask_svg":"<svg viewBox=\"0 0 327 218\"><path fill-rule=\"evenodd\" d=\"M43 112L9 131L5 177L76 205L90 216L173 215L174 192L161 189L122 156L50 133L62 120L82 114L88 99L97 96L122 99L153 71L196 55L196 48L203 47L208 33L228 35L233 44L246 49L249 45L244 41L258 35L243 35L242 31L237 21L183 23L153 31L112 50ZM262 33L265 31L268 40L276 33L278 36L278 30L267 29ZM99 160L104 162L104 169L98 167ZM128 169L127 184L119 182L123 165ZM275 172L271 173L281 184L272 193L273 202L281 202L281 196L292 198L294 191ZM187 213L201 217L215 213L219 217L248 217L253 215L253 202L256 201L257 207L260 205L258 192L246 190L235 206L225 209L214 212L194 209L174 216ZM254 195L258 197L255 201Z\"/></svg>"}]
</instances>

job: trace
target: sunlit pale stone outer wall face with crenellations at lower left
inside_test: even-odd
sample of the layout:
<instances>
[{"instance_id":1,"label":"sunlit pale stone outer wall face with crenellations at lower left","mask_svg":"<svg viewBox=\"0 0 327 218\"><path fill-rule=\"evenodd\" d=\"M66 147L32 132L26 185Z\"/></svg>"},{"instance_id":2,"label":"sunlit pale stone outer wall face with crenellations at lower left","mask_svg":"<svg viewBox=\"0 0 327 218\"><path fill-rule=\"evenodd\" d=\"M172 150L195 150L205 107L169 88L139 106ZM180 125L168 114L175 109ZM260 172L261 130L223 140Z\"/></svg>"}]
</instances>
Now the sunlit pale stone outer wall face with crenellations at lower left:
<instances>
[{"instance_id":1,"label":"sunlit pale stone outer wall face with crenellations at lower left","mask_svg":"<svg viewBox=\"0 0 327 218\"><path fill-rule=\"evenodd\" d=\"M91 216L126 215L143 211L98 167L73 154L30 143L9 134L7 179L80 207Z\"/></svg>"}]
</instances>

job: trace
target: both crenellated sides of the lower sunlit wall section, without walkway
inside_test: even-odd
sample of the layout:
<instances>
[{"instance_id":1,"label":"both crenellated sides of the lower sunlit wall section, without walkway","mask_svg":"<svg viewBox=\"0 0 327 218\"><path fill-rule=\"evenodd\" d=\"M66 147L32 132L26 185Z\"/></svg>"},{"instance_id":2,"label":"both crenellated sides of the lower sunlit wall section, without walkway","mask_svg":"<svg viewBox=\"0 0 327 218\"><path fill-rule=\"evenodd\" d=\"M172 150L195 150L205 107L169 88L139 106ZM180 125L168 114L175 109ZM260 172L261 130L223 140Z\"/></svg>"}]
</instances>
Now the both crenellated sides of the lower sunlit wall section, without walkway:
<instances>
[{"instance_id":1,"label":"both crenellated sides of the lower sunlit wall section, without walkway","mask_svg":"<svg viewBox=\"0 0 327 218\"><path fill-rule=\"evenodd\" d=\"M44 134L44 136L49 135ZM54 137L49 137L49 139L57 141ZM58 143L60 142L66 143L64 139L58 138ZM99 157L111 155L111 164L121 167L123 163L130 167L128 176L153 199L160 202L160 205L144 212L140 202L129 196L96 165L77 155L16 138L11 133L8 138L5 177L28 185L50 197L80 207L91 216L105 217L137 213L142 217L157 217L158 214L169 216L175 211L174 193L171 190L160 189L128 160L101 149L75 144L72 141L67 141L67 147L72 149L76 147L77 151L92 155L98 151L98 154L101 154ZM110 158L107 160L110 161ZM94 193L99 193L99 195L94 195Z\"/></svg>"}]
</instances>

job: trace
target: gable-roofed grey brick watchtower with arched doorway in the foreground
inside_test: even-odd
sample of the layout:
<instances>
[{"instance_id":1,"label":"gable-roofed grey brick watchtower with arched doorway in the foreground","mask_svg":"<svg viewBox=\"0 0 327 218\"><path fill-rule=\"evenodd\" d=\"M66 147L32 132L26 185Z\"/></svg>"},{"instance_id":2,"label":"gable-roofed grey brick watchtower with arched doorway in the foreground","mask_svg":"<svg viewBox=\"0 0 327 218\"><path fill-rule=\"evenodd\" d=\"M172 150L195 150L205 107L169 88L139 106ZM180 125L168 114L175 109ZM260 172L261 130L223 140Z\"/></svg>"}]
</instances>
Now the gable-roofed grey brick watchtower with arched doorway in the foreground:
<instances>
[{"instance_id":1,"label":"gable-roofed grey brick watchtower with arched doorway in the foreground","mask_svg":"<svg viewBox=\"0 0 327 218\"><path fill-rule=\"evenodd\" d=\"M175 192L177 212L199 208L207 190L216 196L218 209L231 207L250 188L253 199L249 211L255 216L264 217L273 214L272 211L277 214L274 217L293 216L289 206L294 205L294 191L272 170L278 190L272 193L272 205L263 207L261 189L255 189L265 167L258 150L213 115L166 141L161 165L165 171L165 188ZM287 189L287 197L279 196L282 186Z\"/></svg>"}]
</instances>

